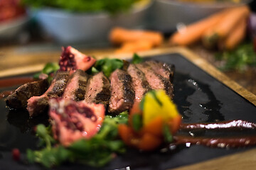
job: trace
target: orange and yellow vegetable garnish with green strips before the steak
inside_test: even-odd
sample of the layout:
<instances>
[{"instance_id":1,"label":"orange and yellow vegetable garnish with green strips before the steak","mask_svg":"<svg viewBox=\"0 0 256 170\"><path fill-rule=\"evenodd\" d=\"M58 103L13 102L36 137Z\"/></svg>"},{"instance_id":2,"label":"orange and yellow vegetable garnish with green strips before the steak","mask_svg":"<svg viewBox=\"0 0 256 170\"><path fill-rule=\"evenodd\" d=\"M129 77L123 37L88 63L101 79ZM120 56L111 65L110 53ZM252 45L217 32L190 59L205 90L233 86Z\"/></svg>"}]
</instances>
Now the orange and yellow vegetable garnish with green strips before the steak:
<instances>
[{"instance_id":1,"label":"orange and yellow vegetable garnish with green strips before the steak","mask_svg":"<svg viewBox=\"0 0 256 170\"><path fill-rule=\"evenodd\" d=\"M181 124L181 115L163 90L149 91L129 111L129 124L119 125L119 135L128 146L153 150L172 142Z\"/></svg>"}]
</instances>

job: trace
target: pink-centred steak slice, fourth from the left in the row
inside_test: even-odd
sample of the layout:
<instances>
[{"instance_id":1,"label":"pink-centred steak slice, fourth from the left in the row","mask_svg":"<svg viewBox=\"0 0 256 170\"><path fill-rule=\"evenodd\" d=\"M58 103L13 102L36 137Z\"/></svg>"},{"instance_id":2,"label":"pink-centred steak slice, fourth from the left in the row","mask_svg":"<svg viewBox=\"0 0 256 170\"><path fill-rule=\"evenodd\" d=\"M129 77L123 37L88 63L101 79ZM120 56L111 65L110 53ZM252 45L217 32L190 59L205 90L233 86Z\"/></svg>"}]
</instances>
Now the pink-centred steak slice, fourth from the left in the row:
<instances>
[{"instance_id":1,"label":"pink-centred steak slice, fourth from the left in the row","mask_svg":"<svg viewBox=\"0 0 256 170\"><path fill-rule=\"evenodd\" d=\"M99 72L88 80L85 101L87 103L110 103L110 80Z\"/></svg>"}]
</instances>

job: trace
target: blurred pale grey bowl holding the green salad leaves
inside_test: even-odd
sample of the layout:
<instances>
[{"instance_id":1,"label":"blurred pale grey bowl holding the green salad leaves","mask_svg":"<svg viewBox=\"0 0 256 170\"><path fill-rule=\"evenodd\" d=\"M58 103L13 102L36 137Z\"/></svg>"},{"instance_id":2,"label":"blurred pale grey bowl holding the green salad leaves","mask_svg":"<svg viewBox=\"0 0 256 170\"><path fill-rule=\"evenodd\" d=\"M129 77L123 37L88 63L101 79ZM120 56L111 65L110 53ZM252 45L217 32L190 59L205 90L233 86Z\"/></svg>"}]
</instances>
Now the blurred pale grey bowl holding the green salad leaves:
<instances>
[{"instance_id":1,"label":"blurred pale grey bowl holding the green salad leaves","mask_svg":"<svg viewBox=\"0 0 256 170\"><path fill-rule=\"evenodd\" d=\"M108 13L72 13L57 8L32 11L33 17L54 40L64 44L107 41L114 26L143 28L151 1L134 4L127 12L111 16Z\"/></svg>"}]
</instances>

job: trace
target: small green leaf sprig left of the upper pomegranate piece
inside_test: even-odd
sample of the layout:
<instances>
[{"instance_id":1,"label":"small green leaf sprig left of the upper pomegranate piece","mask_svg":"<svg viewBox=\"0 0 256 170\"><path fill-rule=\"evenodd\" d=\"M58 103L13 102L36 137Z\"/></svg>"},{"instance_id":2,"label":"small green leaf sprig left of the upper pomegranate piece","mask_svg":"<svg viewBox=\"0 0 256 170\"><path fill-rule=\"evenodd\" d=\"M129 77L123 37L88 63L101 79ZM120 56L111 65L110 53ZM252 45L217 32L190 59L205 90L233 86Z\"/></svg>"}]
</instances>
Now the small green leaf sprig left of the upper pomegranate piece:
<instances>
[{"instance_id":1,"label":"small green leaf sprig left of the upper pomegranate piece","mask_svg":"<svg viewBox=\"0 0 256 170\"><path fill-rule=\"evenodd\" d=\"M33 75L35 79L39 79L40 74L47 74L48 75L48 81L50 82L53 80L53 74L60 69L60 66L57 62L48 62L45 67L43 67L43 70L39 73L36 73Z\"/></svg>"}]
</instances>

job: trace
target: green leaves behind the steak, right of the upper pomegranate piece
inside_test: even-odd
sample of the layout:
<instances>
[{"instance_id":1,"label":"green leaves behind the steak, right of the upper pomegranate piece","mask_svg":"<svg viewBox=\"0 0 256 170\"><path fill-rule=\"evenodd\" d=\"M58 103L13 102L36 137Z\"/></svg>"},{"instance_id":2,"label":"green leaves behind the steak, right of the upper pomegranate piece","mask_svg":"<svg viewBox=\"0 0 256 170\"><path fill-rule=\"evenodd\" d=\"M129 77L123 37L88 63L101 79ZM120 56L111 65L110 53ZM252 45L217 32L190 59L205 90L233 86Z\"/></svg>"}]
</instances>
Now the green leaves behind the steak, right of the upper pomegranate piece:
<instances>
[{"instance_id":1,"label":"green leaves behind the steak, right of the upper pomegranate piece","mask_svg":"<svg viewBox=\"0 0 256 170\"><path fill-rule=\"evenodd\" d=\"M109 59L105 58L102 60L97 60L94 65L94 72L103 72L107 77L110 77L110 74L115 69L121 69L124 65L124 62L119 59Z\"/></svg>"}]
</instances>

